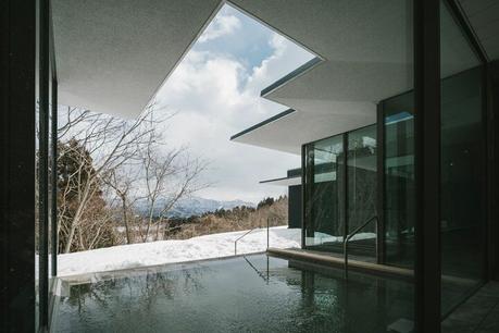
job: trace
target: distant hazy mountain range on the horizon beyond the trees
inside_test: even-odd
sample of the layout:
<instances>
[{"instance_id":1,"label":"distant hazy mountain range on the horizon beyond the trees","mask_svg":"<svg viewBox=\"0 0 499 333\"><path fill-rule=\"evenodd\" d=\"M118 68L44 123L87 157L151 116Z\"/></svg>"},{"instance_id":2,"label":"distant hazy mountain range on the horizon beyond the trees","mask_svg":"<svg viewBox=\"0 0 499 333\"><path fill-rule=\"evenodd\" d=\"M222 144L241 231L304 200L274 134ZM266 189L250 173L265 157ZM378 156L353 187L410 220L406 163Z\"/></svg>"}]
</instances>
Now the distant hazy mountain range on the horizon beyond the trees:
<instances>
[{"instance_id":1,"label":"distant hazy mountain range on the horizon beyond the trees","mask_svg":"<svg viewBox=\"0 0 499 333\"><path fill-rule=\"evenodd\" d=\"M165 199L159 199L154 208L154 217L158 217L164 205ZM204 199L201 197L188 197L180 199L173 209L167 213L169 218L189 218L192 215L201 215L202 213L215 211L217 209L233 209L237 206L257 207L253 202L242 200L220 201L213 199ZM139 214L147 214L147 201L139 200L136 202L136 210Z\"/></svg>"}]
</instances>

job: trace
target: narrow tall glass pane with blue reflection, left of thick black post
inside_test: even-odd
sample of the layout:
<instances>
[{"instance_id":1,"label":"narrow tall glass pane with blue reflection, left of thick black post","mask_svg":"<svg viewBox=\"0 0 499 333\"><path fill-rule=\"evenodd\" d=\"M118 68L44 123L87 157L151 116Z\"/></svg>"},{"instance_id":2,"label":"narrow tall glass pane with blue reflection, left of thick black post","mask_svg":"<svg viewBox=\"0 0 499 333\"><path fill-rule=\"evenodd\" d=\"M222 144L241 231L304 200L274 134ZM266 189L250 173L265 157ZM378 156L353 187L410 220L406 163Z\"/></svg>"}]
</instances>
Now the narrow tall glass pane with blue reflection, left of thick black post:
<instances>
[{"instance_id":1,"label":"narrow tall glass pane with blue reflection, left of thick black post","mask_svg":"<svg viewBox=\"0 0 499 333\"><path fill-rule=\"evenodd\" d=\"M382 102L384 120L384 261L414 264L414 94Z\"/></svg>"}]
</instances>

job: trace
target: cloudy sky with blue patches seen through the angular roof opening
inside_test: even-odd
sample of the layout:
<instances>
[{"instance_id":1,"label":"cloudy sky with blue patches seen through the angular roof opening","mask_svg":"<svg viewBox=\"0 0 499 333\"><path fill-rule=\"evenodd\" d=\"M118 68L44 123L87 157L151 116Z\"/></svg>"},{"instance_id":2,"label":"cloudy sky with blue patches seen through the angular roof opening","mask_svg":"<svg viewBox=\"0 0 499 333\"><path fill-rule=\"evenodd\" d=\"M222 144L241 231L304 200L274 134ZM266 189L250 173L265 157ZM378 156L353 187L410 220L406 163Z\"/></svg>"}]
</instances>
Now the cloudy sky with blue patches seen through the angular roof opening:
<instances>
[{"instance_id":1,"label":"cloudy sky with blue patches seen through the angular roof opening","mask_svg":"<svg viewBox=\"0 0 499 333\"><path fill-rule=\"evenodd\" d=\"M209 161L196 196L258 202L287 193L259 184L300 165L299 156L229 140L230 136L286 109L260 91L313 55L269 27L225 4L157 95L175 112L165 130L174 146Z\"/></svg>"}]
</instances>

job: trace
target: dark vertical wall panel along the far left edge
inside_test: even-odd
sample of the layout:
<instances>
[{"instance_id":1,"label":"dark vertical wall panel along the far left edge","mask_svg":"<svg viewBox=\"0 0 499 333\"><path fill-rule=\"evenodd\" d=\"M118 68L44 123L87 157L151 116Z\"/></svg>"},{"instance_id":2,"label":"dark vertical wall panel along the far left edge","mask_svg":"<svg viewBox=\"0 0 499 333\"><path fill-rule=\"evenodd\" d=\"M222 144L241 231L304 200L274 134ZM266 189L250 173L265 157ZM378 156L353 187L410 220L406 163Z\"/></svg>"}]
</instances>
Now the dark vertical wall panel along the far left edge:
<instances>
[{"instance_id":1,"label":"dark vertical wall panel along the far left edge","mask_svg":"<svg viewBox=\"0 0 499 333\"><path fill-rule=\"evenodd\" d=\"M35 1L0 1L1 332L35 330Z\"/></svg>"}]
</instances>

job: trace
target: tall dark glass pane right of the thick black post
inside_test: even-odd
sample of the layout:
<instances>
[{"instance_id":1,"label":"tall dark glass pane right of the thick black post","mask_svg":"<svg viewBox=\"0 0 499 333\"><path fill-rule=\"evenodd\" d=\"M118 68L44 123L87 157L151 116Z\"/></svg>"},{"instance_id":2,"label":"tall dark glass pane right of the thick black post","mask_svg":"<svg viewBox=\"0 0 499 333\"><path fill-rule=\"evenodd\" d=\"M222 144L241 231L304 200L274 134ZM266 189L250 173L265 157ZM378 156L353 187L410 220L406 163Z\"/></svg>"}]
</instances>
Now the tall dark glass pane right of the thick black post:
<instances>
[{"instance_id":1,"label":"tall dark glass pane right of the thick black post","mask_svg":"<svg viewBox=\"0 0 499 333\"><path fill-rule=\"evenodd\" d=\"M445 316L485 278L483 69L447 5L440 10L440 247Z\"/></svg>"}]
</instances>

